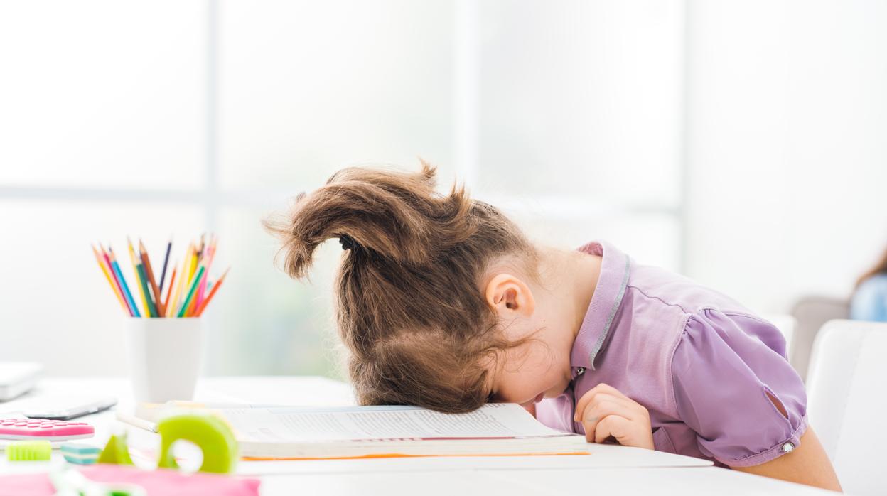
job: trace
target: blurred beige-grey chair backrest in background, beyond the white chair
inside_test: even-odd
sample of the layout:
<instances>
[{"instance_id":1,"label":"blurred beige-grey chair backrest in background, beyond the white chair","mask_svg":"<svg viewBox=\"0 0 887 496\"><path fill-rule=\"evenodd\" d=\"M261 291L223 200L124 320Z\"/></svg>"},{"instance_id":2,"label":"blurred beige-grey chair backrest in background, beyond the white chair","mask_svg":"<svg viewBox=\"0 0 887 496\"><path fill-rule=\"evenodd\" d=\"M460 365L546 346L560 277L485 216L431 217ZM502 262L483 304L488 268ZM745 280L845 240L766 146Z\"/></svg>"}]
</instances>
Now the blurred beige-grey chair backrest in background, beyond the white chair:
<instances>
[{"instance_id":1,"label":"blurred beige-grey chair backrest in background, beyond the white chair","mask_svg":"<svg viewBox=\"0 0 887 496\"><path fill-rule=\"evenodd\" d=\"M849 319L850 302L828 296L806 296L795 303L791 316L795 318L797 325L792 335L789 363L795 367L801 379L806 381L816 334L829 320Z\"/></svg>"}]
</instances>

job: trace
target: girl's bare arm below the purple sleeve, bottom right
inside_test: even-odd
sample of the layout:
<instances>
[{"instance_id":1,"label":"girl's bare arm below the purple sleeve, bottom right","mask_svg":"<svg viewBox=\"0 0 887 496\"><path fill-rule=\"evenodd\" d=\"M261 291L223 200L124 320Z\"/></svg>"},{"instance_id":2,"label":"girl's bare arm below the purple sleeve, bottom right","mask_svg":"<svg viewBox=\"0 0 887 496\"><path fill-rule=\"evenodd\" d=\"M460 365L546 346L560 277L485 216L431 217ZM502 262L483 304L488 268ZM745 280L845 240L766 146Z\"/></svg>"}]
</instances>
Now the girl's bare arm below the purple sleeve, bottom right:
<instances>
[{"instance_id":1,"label":"girl's bare arm below the purple sleeve, bottom right","mask_svg":"<svg viewBox=\"0 0 887 496\"><path fill-rule=\"evenodd\" d=\"M835 469L832 468L831 461L828 461L828 455L822 449L813 429L808 427L800 439L801 443L791 453L783 454L760 465L733 469L841 492L841 484L838 483Z\"/></svg>"}]
</instances>

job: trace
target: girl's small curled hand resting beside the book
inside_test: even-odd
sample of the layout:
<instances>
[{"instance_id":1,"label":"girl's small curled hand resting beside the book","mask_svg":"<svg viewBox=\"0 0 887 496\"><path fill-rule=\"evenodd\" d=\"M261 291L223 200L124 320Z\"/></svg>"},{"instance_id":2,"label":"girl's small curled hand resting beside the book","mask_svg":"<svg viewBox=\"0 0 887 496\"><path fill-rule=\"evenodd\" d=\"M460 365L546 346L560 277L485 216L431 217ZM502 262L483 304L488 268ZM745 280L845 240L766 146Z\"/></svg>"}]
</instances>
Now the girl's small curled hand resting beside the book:
<instances>
[{"instance_id":1,"label":"girl's small curled hand resting beside the book","mask_svg":"<svg viewBox=\"0 0 887 496\"><path fill-rule=\"evenodd\" d=\"M647 408L603 382L579 398L573 420L582 421L588 442L612 436L620 445L654 449Z\"/></svg>"}]
</instances>

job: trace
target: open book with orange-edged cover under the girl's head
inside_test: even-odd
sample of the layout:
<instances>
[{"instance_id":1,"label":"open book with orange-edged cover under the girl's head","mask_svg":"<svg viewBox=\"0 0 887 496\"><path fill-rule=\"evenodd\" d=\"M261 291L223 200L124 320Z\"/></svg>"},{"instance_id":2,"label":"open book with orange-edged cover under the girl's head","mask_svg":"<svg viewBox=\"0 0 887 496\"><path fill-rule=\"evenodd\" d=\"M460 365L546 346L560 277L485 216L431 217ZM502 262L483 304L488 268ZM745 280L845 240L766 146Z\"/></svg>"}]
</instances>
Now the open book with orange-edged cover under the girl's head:
<instances>
[{"instance_id":1,"label":"open book with orange-edged cover under the girl's head","mask_svg":"<svg viewBox=\"0 0 887 496\"><path fill-rule=\"evenodd\" d=\"M472 413L416 406L225 408L247 459L589 454L585 437L549 429L521 405Z\"/></svg>"}]
</instances>

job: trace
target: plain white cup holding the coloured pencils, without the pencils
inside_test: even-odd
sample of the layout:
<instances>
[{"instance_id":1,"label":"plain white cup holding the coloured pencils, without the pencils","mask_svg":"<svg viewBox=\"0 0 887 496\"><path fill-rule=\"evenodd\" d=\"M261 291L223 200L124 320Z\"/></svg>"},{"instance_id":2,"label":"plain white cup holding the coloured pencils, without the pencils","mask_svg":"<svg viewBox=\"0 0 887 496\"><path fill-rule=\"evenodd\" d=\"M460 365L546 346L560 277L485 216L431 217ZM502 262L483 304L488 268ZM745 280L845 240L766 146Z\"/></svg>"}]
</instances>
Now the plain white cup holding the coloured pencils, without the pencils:
<instances>
[{"instance_id":1,"label":"plain white cup holding the coloured pencils, without the pencils","mask_svg":"<svg viewBox=\"0 0 887 496\"><path fill-rule=\"evenodd\" d=\"M127 320L130 379L137 402L193 398L203 334L200 318Z\"/></svg>"}]
</instances>

